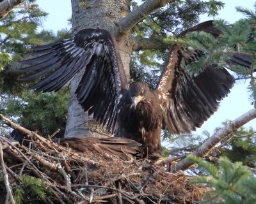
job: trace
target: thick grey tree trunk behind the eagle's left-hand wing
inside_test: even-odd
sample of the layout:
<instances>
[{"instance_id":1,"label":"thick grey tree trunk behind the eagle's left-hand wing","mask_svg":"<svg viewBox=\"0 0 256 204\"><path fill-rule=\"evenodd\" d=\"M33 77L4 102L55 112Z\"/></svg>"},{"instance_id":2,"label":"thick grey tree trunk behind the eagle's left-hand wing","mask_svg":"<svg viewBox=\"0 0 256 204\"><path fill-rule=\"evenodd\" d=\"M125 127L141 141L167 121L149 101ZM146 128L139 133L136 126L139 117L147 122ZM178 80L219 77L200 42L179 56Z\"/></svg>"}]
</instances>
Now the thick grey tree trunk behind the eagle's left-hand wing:
<instances>
[{"instance_id":1,"label":"thick grey tree trunk behind the eagle's left-hand wing","mask_svg":"<svg viewBox=\"0 0 256 204\"><path fill-rule=\"evenodd\" d=\"M111 31L114 35L118 31L117 22L129 13L130 0L90 0L83 1L71 0L72 2L72 33L85 28L102 28ZM117 39L118 50L120 52L126 76L129 78L129 62L131 58L133 41L130 34ZM68 119L65 137L70 136L106 136L102 132L102 127L93 121L92 115L84 113L76 99L76 87L83 73L77 75L72 80L70 98L68 105Z\"/></svg>"}]
</instances>

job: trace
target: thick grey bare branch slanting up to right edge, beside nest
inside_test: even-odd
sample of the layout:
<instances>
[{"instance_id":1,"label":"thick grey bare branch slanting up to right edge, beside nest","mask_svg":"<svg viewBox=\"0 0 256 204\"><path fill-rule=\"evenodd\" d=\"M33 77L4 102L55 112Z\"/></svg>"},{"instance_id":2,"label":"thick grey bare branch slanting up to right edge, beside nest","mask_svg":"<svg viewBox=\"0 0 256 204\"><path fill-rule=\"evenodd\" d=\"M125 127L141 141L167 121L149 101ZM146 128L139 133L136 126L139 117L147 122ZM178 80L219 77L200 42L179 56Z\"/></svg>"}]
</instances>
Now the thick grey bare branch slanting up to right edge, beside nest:
<instances>
[{"instance_id":1,"label":"thick grey bare branch slanting up to right edge, beside nest","mask_svg":"<svg viewBox=\"0 0 256 204\"><path fill-rule=\"evenodd\" d=\"M234 131L237 131L238 128L246 124L252 119L256 118L256 109L253 108L252 110L249 110L248 112L244 113L240 117L238 117L235 120L230 121L226 126L221 128L219 131L214 133L208 140L206 140L201 147L196 149L192 155L197 157L204 157L206 156L216 144L218 144L221 140L223 140L225 137L233 133ZM193 163L191 163L187 158L183 159L179 163L173 165L173 170L186 170L188 169Z\"/></svg>"}]
</instances>

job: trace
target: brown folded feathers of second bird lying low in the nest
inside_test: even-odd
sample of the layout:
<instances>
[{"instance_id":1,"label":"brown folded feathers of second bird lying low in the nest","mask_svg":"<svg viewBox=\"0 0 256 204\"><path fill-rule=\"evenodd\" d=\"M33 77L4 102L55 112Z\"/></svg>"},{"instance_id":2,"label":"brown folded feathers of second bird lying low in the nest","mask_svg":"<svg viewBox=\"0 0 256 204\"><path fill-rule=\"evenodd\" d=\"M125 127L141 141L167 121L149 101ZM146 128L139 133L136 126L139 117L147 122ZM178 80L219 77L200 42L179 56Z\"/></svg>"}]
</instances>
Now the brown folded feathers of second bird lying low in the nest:
<instances>
[{"instance_id":1,"label":"brown folded feathers of second bird lying low in the nest","mask_svg":"<svg viewBox=\"0 0 256 204\"><path fill-rule=\"evenodd\" d=\"M109 153L119 157L126 154L139 154L141 144L127 138L90 138L70 137L56 139L60 145L68 145L72 149L87 153Z\"/></svg>"}]
</instances>

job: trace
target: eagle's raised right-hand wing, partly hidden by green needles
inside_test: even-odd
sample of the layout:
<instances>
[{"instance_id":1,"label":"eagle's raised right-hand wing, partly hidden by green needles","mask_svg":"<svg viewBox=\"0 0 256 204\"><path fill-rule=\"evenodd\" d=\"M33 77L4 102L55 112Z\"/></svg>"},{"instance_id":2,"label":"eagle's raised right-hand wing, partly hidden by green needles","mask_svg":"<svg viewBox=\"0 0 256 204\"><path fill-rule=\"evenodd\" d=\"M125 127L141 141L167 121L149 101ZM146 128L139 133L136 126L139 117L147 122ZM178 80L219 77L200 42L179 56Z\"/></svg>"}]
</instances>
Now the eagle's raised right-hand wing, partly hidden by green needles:
<instances>
[{"instance_id":1,"label":"eagle's raised right-hand wing, partly hidden by green needles","mask_svg":"<svg viewBox=\"0 0 256 204\"><path fill-rule=\"evenodd\" d=\"M206 31L214 36L221 34L211 28L212 21L196 25L189 31ZM185 73L186 64L196 61L200 55L202 52L182 45L174 45L170 50L170 57L156 87L163 109L163 125L170 133L189 133L199 128L216 111L218 101L227 96L234 84L228 71L218 69L214 64L197 76ZM250 61L246 61L244 56L234 56L230 61L250 66Z\"/></svg>"}]
</instances>

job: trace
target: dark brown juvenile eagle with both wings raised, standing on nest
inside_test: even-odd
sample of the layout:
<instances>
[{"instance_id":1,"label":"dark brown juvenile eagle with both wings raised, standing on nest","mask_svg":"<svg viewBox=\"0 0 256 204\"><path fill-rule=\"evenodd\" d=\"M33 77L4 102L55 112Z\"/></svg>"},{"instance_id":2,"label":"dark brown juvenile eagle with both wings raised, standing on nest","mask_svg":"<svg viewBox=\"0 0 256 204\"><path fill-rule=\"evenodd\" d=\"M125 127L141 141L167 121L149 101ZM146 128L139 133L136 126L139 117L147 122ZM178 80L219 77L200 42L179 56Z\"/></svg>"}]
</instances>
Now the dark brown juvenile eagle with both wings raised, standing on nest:
<instances>
[{"instance_id":1,"label":"dark brown juvenile eagle with both wings raised, standing on nest","mask_svg":"<svg viewBox=\"0 0 256 204\"><path fill-rule=\"evenodd\" d=\"M216 37L221 34L212 21L196 25L180 37L189 31L205 31ZM161 152L163 127L172 134L199 128L234 84L227 70L216 69L215 64L197 76L189 76L186 65L196 61L202 52L177 44L170 48L155 89L150 90L145 83L129 86L116 40L104 29L81 30L73 38L37 47L28 55L40 56L21 62L30 64L21 69L29 73L21 80L49 74L31 87L38 92L58 91L85 69L76 90L84 111L93 114L115 136L142 143L145 154ZM243 66L247 63L239 56L231 61Z\"/></svg>"}]
</instances>

